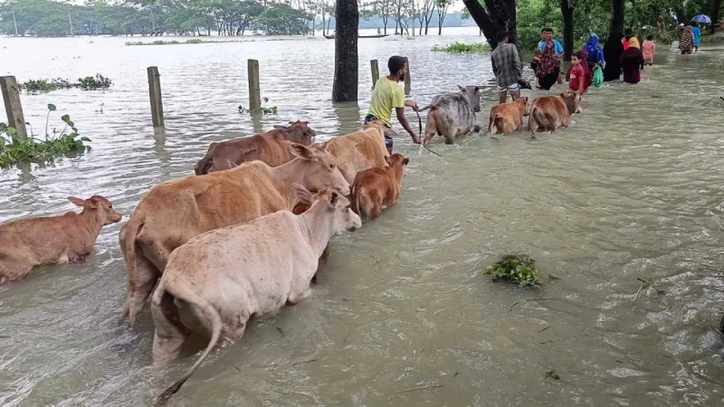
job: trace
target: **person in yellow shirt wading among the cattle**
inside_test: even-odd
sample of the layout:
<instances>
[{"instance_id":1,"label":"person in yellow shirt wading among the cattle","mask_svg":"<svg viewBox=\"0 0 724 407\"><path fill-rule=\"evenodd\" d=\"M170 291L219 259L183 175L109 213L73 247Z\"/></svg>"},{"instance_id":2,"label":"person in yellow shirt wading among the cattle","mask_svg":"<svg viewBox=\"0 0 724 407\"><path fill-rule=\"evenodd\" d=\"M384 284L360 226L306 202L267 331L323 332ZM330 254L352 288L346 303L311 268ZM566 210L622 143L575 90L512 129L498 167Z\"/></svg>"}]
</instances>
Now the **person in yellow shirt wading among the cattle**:
<instances>
[{"instance_id":1,"label":"person in yellow shirt wading among the cattle","mask_svg":"<svg viewBox=\"0 0 724 407\"><path fill-rule=\"evenodd\" d=\"M405 80L407 74L407 61L401 56L393 56L387 61L387 68L390 70L388 76L382 77L375 83L375 90L372 91L372 99L369 101L369 112L365 123L370 121L381 121L386 128L392 128L392 109L397 112L397 120L400 121L407 133L413 137L414 144L420 144L418 137L405 118L405 106L417 111L417 103L412 100L405 101L405 91L398 84ZM385 135L387 152L392 154L392 137Z\"/></svg>"}]
</instances>

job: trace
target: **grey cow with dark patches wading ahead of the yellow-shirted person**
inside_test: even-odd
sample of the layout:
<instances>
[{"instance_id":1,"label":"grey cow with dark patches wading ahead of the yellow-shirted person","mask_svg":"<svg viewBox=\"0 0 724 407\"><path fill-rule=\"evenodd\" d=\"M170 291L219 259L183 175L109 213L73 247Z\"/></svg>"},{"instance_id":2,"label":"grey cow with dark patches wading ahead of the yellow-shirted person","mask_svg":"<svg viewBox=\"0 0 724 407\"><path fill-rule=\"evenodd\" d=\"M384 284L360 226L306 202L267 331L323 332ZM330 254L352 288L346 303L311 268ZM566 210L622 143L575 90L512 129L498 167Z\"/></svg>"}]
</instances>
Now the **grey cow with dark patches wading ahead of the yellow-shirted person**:
<instances>
[{"instance_id":1,"label":"grey cow with dark patches wading ahead of the yellow-shirted person","mask_svg":"<svg viewBox=\"0 0 724 407\"><path fill-rule=\"evenodd\" d=\"M481 131L475 113L481 111L481 91L477 86L460 88L459 92L435 96L423 109L430 109L424 126L424 141L427 145L435 133L445 137L445 144L452 144L455 137Z\"/></svg>"}]
</instances>

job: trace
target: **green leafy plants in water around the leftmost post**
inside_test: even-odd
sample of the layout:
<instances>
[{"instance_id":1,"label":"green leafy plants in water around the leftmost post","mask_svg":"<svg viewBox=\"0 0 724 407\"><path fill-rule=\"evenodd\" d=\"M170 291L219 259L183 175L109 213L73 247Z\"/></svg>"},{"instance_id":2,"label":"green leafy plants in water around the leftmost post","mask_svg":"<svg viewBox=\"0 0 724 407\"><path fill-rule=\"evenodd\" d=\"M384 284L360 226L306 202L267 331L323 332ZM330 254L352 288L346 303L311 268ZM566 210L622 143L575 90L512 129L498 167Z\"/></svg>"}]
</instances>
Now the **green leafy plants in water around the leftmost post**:
<instances>
[{"instance_id":1,"label":"green leafy plants in water around the leftmost post","mask_svg":"<svg viewBox=\"0 0 724 407\"><path fill-rule=\"evenodd\" d=\"M55 111L55 106L48 105L48 114ZM5 123L0 123L0 168L9 168L20 164L46 164L52 163L59 156L74 157L86 151L90 146L83 142L90 142L88 137L78 137L78 128L71 121L70 116L62 116L65 125L63 130L53 136L45 135L45 140L38 140L34 137L20 138L14 128L8 128ZM71 128L69 133L66 130Z\"/></svg>"}]
</instances>

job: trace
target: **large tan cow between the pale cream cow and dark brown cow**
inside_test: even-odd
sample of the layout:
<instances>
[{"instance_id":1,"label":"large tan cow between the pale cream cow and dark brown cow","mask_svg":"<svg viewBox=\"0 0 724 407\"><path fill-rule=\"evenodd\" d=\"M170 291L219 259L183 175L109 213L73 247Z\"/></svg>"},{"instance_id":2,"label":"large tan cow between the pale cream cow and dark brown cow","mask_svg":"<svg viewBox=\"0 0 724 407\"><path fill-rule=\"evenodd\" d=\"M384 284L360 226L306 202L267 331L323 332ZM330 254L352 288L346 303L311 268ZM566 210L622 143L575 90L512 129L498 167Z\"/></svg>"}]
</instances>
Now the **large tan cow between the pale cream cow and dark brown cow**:
<instances>
[{"instance_id":1,"label":"large tan cow between the pale cream cow and dark brown cow","mask_svg":"<svg viewBox=\"0 0 724 407\"><path fill-rule=\"evenodd\" d=\"M193 237L268 213L290 211L298 203L292 183L313 191L331 187L349 194L349 184L327 150L289 144L297 158L282 166L252 161L228 171L168 181L143 197L119 235L129 270L124 317L133 323L171 251Z\"/></svg>"}]
</instances>

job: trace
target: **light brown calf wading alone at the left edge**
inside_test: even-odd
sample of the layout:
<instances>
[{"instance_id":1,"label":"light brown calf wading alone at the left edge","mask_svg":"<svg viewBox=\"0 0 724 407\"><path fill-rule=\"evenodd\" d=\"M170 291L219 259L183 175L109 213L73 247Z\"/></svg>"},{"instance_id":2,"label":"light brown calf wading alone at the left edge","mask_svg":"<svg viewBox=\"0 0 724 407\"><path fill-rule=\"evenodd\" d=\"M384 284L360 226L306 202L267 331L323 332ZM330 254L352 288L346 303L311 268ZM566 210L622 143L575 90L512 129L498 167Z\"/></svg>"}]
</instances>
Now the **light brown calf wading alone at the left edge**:
<instances>
[{"instance_id":1,"label":"light brown calf wading alone at the left edge","mask_svg":"<svg viewBox=\"0 0 724 407\"><path fill-rule=\"evenodd\" d=\"M0 284L24 279L34 266L84 261L100 229L122 217L100 195L68 200L82 212L0 224Z\"/></svg>"}]
</instances>

